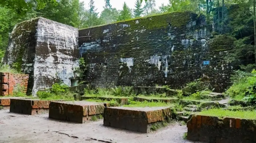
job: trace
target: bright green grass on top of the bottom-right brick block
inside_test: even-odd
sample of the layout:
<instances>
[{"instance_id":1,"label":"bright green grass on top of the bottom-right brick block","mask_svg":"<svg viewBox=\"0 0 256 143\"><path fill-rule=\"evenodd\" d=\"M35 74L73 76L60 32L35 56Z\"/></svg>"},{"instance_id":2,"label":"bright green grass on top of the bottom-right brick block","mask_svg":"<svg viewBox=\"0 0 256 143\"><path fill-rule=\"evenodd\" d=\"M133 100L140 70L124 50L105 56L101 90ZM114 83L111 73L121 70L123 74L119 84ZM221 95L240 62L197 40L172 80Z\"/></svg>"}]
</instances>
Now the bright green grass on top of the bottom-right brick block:
<instances>
[{"instance_id":1,"label":"bright green grass on top of the bottom-right brick block","mask_svg":"<svg viewBox=\"0 0 256 143\"><path fill-rule=\"evenodd\" d=\"M223 109L210 109L210 110L203 110L198 114L207 115L207 116L217 116L221 118L236 117L236 118L243 118L243 119L256 119L255 111L230 111L230 110L223 110Z\"/></svg>"}]
</instances>

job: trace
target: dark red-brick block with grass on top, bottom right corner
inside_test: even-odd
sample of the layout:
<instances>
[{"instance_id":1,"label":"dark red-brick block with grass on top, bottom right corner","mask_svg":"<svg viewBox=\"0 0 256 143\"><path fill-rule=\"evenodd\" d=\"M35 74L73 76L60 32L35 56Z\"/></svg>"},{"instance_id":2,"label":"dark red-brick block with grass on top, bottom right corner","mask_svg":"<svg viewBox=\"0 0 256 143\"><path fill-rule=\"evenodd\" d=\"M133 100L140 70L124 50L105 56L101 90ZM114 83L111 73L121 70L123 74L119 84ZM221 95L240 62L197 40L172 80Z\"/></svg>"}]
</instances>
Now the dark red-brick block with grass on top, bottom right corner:
<instances>
[{"instance_id":1,"label":"dark red-brick block with grass on top, bottom right corner","mask_svg":"<svg viewBox=\"0 0 256 143\"><path fill-rule=\"evenodd\" d=\"M209 143L255 143L255 121L192 115L187 121L187 139Z\"/></svg>"}]
</instances>

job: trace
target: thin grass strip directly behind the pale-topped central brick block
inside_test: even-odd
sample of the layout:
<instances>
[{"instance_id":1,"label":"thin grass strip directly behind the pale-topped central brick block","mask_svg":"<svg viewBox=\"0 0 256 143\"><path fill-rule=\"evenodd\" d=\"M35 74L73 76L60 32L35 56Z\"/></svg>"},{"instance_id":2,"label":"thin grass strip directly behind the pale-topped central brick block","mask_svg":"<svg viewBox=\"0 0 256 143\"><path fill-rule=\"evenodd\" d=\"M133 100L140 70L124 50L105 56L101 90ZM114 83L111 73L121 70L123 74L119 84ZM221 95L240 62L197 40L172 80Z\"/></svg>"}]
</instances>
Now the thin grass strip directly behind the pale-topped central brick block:
<instances>
[{"instance_id":1,"label":"thin grass strip directly behind the pale-topped central brick block","mask_svg":"<svg viewBox=\"0 0 256 143\"><path fill-rule=\"evenodd\" d=\"M124 107L164 107L164 106L174 106L173 104L163 103L163 102L139 102L139 101L129 101L129 105L124 105Z\"/></svg>"}]
</instances>

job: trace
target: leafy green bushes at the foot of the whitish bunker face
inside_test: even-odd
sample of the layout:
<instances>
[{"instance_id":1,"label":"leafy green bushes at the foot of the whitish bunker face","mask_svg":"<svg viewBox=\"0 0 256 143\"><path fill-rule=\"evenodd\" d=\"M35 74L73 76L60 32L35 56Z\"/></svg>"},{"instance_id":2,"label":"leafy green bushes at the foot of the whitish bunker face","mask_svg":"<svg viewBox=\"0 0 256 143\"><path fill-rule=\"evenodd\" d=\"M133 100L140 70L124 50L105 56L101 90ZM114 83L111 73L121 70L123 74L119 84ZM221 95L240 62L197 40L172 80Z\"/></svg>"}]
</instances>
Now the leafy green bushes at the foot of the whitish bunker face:
<instances>
[{"instance_id":1,"label":"leafy green bushes at the foot of the whitish bunker face","mask_svg":"<svg viewBox=\"0 0 256 143\"><path fill-rule=\"evenodd\" d=\"M65 84L55 83L51 88L44 91L37 91L36 95L41 100L74 100L74 93L71 93Z\"/></svg>"}]
</instances>

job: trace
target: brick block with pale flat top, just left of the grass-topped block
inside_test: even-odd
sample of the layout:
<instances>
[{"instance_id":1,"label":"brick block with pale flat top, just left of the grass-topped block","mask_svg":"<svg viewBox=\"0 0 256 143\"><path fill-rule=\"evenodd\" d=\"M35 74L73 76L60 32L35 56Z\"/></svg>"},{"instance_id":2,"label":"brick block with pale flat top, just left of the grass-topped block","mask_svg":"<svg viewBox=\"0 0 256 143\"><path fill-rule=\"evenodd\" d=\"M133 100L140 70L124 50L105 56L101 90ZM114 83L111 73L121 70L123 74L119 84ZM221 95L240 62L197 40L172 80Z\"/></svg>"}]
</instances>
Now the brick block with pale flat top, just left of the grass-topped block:
<instances>
[{"instance_id":1,"label":"brick block with pale flat top, just left of the grass-topped block","mask_svg":"<svg viewBox=\"0 0 256 143\"><path fill-rule=\"evenodd\" d=\"M105 107L103 115L105 126L147 133L152 125L172 118L172 109L169 107Z\"/></svg>"}]
</instances>

